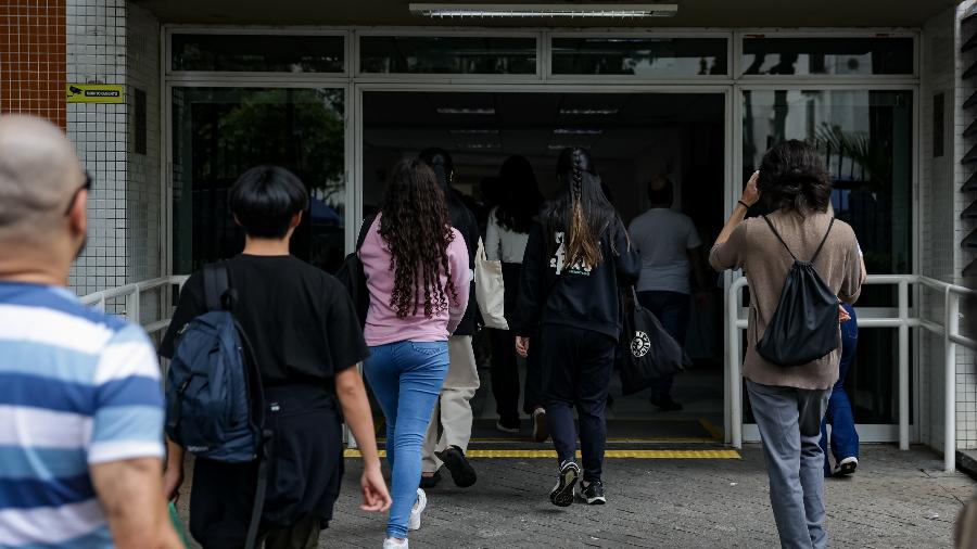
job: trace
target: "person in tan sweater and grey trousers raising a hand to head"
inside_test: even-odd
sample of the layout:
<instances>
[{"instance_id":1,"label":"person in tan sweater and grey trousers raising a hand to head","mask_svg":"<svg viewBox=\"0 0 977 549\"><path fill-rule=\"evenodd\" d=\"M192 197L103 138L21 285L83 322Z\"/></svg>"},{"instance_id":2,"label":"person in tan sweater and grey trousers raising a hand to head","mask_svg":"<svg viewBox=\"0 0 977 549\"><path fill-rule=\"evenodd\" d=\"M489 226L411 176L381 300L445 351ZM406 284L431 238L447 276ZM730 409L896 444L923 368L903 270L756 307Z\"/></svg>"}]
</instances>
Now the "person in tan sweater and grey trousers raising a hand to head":
<instances>
[{"instance_id":1,"label":"person in tan sweater and grey trousers raising a hand to head","mask_svg":"<svg viewBox=\"0 0 977 549\"><path fill-rule=\"evenodd\" d=\"M770 499L783 547L823 548L824 452L821 419L838 380L839 348L803 366L783 367L756 350L777 307L794 258L815 255L814 269L841 301L854 303L864 280L855 235L830 226L832 184L817 151L801 141L777 144L763 156L710 254L716 270L743 269L750 283L748 348L743 375L770 475ZM744 220L763 196L777 239L763 218ZM830 230L829 230L830 227ZM825 234L827 239L825 240ZM839 330L840 342L840 330Z\"/></svg>"}]
</instances>

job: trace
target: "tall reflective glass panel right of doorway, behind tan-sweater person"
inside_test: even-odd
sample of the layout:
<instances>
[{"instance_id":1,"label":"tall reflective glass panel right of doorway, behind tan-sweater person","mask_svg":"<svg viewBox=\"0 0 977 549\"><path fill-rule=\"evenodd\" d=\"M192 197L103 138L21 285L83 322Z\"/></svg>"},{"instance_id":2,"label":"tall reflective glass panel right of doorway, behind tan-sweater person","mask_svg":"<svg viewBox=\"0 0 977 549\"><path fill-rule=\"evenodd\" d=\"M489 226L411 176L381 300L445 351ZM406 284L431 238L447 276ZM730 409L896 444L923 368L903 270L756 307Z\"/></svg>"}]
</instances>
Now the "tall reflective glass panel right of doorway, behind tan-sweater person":
<instances>
[{"instance_id":1,"label":"tall reflective glass panel right of doorway, behind tan-sweater person","mask_svg":"<svg viewBox=\"0 0 977 549\"><path fill-rule=\"evenodd\" d=\"M835 187L835 215L851 225L870 273L910 273L912 92L744 91L744 181L785 139L814 143ZM756 213L762 213L760 207ZM865 286L857 307L896 307L892 286ZM846 388L860 423L894 423L896 330L863 329Z\"/></svg>"}]
</instances>

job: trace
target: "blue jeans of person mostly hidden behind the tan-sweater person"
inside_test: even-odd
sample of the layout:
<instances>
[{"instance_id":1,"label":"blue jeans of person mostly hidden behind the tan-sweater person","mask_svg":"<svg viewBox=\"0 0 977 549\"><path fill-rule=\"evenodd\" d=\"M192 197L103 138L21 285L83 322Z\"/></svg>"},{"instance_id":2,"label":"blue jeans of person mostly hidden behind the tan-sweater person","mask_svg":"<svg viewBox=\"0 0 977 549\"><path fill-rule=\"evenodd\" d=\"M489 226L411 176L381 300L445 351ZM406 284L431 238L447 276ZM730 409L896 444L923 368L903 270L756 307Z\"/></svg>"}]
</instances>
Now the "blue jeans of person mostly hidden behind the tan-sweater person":
<instances>
[{"instance_id":1,"label":"blue jeans of person mostly hidden behind the tan-sweater person","mask_svg":"<svg viewBox=\"0 0 977 549\"><path fill-rule=\"evenodd\" d=\"M851 315L851 320L841 324L841 362L838 367L838 381L832 391L827 413L821 421L821 449L824 450L825 476L832 474L832 464L827 458L828 437L825 429L828 423L832 424L830 446L835 462L840 463L845 458L859 457L859 433L854 429L854 416L851 412L848 393L845 392L845 378L848 376L858 349L859 324L852 306L848 304L842 306Z\"/></svg>"}]
</instances>

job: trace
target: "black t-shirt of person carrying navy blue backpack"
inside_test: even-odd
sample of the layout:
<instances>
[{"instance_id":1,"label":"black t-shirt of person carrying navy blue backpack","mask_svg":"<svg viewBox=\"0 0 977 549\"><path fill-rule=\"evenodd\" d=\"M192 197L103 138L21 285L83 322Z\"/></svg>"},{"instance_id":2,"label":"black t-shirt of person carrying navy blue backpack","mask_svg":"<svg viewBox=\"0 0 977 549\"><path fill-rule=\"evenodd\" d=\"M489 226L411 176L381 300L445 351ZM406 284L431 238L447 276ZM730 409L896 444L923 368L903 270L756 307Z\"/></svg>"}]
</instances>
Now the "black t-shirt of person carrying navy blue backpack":
<instances>
[{"instance_id":1,"label":"black t-shirt of person carrying navy blue backpack","mask_svg":"<svg viewBox=\"0 0 977 549\"><path fill-rule=\"evenodd\" d=\"M335 372L369 356L353 301L331 274L292 256L239 255L228 265L238 295L234 317L251 341L264 385L331 390ZM195 272L183 285L160 355L172 358L176 334L204 312L203 276Z\"/></svg>"}]
</instances>

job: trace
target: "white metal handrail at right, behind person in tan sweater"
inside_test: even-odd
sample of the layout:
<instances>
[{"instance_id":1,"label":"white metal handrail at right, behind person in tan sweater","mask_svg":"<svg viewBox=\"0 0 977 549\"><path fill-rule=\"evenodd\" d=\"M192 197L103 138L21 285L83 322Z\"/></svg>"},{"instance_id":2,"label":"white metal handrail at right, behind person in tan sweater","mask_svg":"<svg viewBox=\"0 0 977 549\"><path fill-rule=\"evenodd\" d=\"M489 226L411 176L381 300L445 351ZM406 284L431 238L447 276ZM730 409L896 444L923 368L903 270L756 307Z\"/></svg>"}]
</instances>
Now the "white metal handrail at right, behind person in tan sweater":
<instances>
[{"instance_id":1,"label":"white metal handrail at right, behind person in tan sweater","mask_svg":"<svg viewBox=\"0 0 977 549\"><path fill-rule=\"evenodd\" d=\"M919 274L872 274L865 281L873 285L898 286L898 317L859 318L860 328L897 328L899 329L899 448L909 449L910 443L910 375L909 375L909 336L911 328L922 328L943 336L943 399L944 399L944 434L943 434L943 469L952 472L956 469L956 350L957 346L977 349L977 342L960 333L960 299L964 296L977 296L977 292ZM909 286L926 286L943 294L942 323L923 318L923 308L915 307L916 317L910 315ZM743 447L743 349L739 330L745 330L748 320L741 304L743 289L749 283L745 277L733 282L726 295L726 329L728 339L728 356L726 357L729 378L729 442L733 447Z\"/></svg>"}]
</instances>

